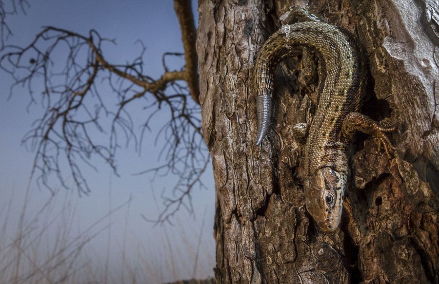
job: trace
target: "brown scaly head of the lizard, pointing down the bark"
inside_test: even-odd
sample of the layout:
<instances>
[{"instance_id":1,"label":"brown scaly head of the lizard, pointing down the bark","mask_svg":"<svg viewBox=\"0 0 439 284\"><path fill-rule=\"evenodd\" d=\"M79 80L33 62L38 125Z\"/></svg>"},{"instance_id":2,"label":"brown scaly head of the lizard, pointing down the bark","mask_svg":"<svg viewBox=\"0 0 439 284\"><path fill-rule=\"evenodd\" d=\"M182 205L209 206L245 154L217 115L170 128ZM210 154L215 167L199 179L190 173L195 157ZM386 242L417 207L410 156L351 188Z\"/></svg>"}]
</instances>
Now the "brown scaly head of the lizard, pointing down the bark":
<instances>
[{"instance_id":1,"label":"brown scaly head of the lizard, pointing down the bark","mask_svg":"<svg viewBox=\"0 0 439 284\"><path fill-rule=\"evenodd\" d=\"M346 174L325 167L304 183L306 209L325 233L339 226L346 180Z\"/></svg>"}]
</instances>

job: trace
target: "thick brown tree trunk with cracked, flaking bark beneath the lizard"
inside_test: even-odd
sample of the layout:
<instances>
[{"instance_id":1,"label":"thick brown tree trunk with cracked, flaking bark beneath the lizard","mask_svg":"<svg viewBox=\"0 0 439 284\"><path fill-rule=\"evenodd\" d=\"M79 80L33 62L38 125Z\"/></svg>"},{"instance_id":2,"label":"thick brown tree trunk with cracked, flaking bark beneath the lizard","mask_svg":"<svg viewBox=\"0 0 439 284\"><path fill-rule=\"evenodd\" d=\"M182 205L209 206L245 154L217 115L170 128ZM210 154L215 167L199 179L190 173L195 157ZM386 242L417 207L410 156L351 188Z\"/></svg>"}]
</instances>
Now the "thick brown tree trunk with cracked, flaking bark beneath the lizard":
<instances>
[{"instance_id":1,"label":"thick brown tree trunk with cracked, flaking bark beneath the lizard","mask_svg":"<svg viewBox=\"0 0 439 284\"><path fill-rule=\"evenodd\" d=\"M397 123L389 159L357 135L338 230L305 208L291 126L309 116L294 62L276 70L272 129L256 147L253 66L290 5L351 31L370 62L362 112ZM216 182L217 283L439 283L439 16L434 0L199 0L205 141ZM436 5L436 7L435 7ZM436 46L436 47L435 47ZM435 61L436 60L436 61Z\"/></svg>"}]
</instances>

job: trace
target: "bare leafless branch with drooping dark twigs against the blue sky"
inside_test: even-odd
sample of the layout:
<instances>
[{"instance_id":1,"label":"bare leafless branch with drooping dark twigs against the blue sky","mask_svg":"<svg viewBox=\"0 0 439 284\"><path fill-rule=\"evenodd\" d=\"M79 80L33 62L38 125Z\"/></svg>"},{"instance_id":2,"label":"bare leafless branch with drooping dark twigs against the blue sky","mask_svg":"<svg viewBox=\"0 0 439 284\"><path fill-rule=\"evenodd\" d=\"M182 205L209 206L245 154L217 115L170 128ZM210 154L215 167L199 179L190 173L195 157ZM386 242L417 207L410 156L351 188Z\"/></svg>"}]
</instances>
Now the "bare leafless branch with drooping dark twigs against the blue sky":
<instances>
[{"instance_id":1,"label":"bare leafless branch with drooping dark twigs against the blue sky","mask_svg":"<svg viewBox=\"0 0 439 284\"><path fill-rule=\"evenodd\" d=\"M25 0L12 2L10 12L4 10L3 4L0 6L2 44L3 38L11 34L5 16L17 13L17 5L23 11L28 5ZM160 221L168 219L181 206L192 210L190 191L203 186L200 176L210 157L200 127L196 30L191 1L174 0L174 6L184 53L163 55L164 73L159 79L145 75L142 59L145 47L141 41L138 42L140 54L132 62L112 64L105 59L102 47L114 40L101 37L95 30L84 36L46 27L25 47L4 46L0 68L15 80L10 95L14 87L25 86L30 104L40 102L44 108L44 114L22 141L36 152L32 176L39 185L51 189L49 177L55 174L66 187L66 174L71 173L79 192L90 192L82 172L83 163L95 168L91 158L98 156L117 175L117 150L133 143L136 151L140 151L151 119L166 112L169 118L156 136L166 141L160 152L162 164L140 173L155 171L178 177L173 198L164 201L166 209ZM59 54L65 58L61 63L53 59L60 58ZM169 70L165 60L169 56L183 57L185 66ZM43 89L38 92L41 83ZM102 94L102 84L110 86L115 95ZM147 118L137 131L127 108L139 103L147 111ZM102 135L109 139L102 142ZM63 168L65 161L67 173Z\"/></svg>"}]
</instances>

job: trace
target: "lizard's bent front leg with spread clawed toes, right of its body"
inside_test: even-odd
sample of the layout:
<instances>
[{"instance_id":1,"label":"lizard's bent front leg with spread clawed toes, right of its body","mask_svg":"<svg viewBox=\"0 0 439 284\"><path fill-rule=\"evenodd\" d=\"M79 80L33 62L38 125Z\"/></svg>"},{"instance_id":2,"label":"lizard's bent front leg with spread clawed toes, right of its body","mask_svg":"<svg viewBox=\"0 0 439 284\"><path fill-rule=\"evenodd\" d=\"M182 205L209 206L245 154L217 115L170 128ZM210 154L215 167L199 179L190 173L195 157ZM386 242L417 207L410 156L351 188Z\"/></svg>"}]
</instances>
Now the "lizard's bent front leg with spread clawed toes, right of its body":
<instances>
[{"instance_id":1,"label":"lizard's bent front leg with spread clawed toes, right of its body","mask_svg":"<svg viewBox=\"0 0 439 284\"><path fill-rule=\"evenodd\" d=\"M389 158L392 157L391 151L395 151L395 147L393 147L385 133L394 130L395 127L381 127L372 118L360 113L349 113L341 126L341 133L347 140L351 140L356 131L372 135L372 137L378 139L378 151L381 151L382 145Z\"/></svg>"}]
</instances>

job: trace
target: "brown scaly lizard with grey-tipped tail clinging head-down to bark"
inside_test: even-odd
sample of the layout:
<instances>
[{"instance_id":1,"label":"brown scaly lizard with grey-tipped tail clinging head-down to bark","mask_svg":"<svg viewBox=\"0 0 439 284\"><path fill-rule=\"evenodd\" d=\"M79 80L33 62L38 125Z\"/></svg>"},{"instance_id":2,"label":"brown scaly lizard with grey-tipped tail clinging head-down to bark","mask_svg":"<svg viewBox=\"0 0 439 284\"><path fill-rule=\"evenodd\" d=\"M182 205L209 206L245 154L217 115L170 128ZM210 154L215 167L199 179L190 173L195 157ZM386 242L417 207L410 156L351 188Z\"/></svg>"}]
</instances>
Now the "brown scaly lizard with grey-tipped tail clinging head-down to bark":
<instances>
[{"instance_id":1,"label":"brown scaly lizard with grey-tipped tail clinging head-down to bark","mask_svg":"<svg viewBox=\"0 0 439 284\"><path fill-rule=\"evenodd\" d=\"M261 145L272 116L274 68L302 50L313 54L319 76L316 113L310 124L295 125L293 134L307 135L300 171L306 209L321 230L330 233L340 223L349 176L346 152L355 133L372 135L378 140L378 150L382 145L391 157L395 148L385 133L395 127L382 127L359 113L368 69L357 38L300 7L291 7L279 20L281 28L265 41L255 61L256 145Z\"/></svg>"}]
</instances>

